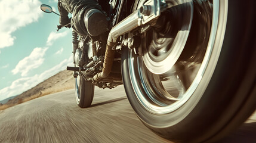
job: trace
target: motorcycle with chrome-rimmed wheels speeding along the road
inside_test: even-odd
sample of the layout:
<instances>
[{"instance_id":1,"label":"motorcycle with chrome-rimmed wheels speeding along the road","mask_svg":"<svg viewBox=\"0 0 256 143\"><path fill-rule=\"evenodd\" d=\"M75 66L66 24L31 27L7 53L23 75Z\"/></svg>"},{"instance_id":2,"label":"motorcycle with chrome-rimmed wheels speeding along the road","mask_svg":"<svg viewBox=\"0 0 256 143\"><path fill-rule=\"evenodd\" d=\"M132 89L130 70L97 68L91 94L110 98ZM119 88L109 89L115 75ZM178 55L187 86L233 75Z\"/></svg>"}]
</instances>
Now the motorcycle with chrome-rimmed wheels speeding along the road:
<instances>
[{"instance_id":1,"label":"motorcycle with chrome-rimmed wheels speeding along the road","mask_svg":"<svg viewBox=\"0 0 256 143\"><path fill-rule=\"evenodd\" d=\"M254 112L255 1L98 2L109 31L72 33L79 107L94 86L124 85L141 122L174 142L218 141Z\"/></svg>"}]
</instances>

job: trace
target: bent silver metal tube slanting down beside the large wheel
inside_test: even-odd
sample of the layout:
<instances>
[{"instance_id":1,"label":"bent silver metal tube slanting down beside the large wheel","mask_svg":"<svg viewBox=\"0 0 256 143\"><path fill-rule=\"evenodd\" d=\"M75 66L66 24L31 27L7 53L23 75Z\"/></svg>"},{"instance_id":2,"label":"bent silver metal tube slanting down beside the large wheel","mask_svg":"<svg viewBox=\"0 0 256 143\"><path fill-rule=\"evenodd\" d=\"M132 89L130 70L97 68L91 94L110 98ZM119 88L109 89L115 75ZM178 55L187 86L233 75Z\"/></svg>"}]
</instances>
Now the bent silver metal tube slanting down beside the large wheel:
<instances>
[{"instance_id":1,"label":"bent silver metal tube slanting down beside the large wheel","mask_svg":"<svg viewBox=\"0 0 256 143\"><path fill-rule=\"evenodd\" d=\"M107 38L107 48L105 52L105 58L103 63L103 70L96 74L93 79L99 81L101 79L109 76L109 73L112 69L115 51L112 50L115 46L116 40L119 36L124 35L125 33L134 30L138 26L146 24L150 20L153 20L160 15L160 1L151 0L147 1L140 9L134 11L127 18L122 20L120 23L116 24L110 32Z\"/></svg>"}]
</instances>

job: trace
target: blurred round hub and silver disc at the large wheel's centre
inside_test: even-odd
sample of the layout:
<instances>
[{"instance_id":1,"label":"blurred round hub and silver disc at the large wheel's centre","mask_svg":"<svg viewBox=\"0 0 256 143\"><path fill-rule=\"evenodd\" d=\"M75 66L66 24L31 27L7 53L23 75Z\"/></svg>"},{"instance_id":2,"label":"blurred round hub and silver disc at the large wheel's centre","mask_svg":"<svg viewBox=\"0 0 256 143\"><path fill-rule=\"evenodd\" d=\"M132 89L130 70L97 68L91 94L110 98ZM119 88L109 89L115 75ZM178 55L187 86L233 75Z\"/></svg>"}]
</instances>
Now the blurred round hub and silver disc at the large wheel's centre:
<instances>
[{"instance_id":1,"label":"blurred round hub and silver disc at the large wheel's centre","mask_svg":"<svg viewBox=\"0 0 256 143\"><path fill-rule=\"evenodd\" d=\"M193 4L185 7L183 11L169 9L162 13L160 22L143 36L143 61L154 74L171 70L184 49L192 24Z\"/></svg>"}]
</instances>

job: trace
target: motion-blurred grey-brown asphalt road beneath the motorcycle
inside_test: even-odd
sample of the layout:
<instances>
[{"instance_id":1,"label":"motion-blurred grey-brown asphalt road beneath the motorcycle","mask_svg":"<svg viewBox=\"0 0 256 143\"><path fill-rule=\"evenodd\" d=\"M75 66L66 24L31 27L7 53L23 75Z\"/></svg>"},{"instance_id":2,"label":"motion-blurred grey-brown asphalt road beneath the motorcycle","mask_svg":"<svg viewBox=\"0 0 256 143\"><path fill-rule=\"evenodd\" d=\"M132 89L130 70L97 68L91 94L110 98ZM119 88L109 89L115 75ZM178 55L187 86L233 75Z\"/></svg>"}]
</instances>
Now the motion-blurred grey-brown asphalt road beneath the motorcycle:
<instances>
[{"instance_id":1,"label":"motion-blurred grey-brown asphalt road beneath the motorcycle","mask_svg":"<svg viewBox=\"0 0 256 143\"><path fill-rule=\"evenodd\" d=\"M138 120L124 92L95 88L90 108L73 90L0 111L0 142L170 142ZM220 142L256 142L256 114Z\"/></svg>"}]
</instances>

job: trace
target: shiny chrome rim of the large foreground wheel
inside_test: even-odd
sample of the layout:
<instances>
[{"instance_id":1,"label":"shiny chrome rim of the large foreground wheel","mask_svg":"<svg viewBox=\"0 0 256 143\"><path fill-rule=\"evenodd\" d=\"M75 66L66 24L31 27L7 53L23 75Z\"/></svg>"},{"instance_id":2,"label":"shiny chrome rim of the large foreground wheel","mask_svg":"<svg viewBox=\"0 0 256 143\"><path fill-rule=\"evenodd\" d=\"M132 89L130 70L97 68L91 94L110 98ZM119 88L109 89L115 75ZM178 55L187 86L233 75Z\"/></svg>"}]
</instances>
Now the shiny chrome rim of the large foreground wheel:
<instances>
[{"instance_id":1,"label":"shiny chrome rim of the large foreground wheel","mask_svg":"<svg viewBox=\"0 0 256 143\"><path fill-rule=\"evenodd\" d=\"M173 64L168 64L169 67L165 67L166 63L168 63L165 62L165 66L158 66L158 69L152 69L149 64L149 54L145 54L143 57L138 57L132 50L128 52L128 68L132 88L137 96L137 100L150 113L171 113L185 104L201 82L202 76L208 66L212 49L215 48L214 42L223 41L223 37L216 37L216 33L217 29L221 29L222 32L226 29L227 14L219 14L219 11L220 5L224 5L224 10L227 10L227 1L213 1L212 4L210 1L206 2L208 2L210 6L212 5L212 17L210 30L208 32L208 41L203 54L197 52L192 57L187 58L186 61L179 61L177 58L172 58L171 60L174 60L175 62L172 61ZM207 12L209 11L206 11L206 13ZM224 24L218 24L219 20L224 21ZM183 49L181 51L184 52ZM218 58L218 56L219 55L215 55L215 58ZM152 63L153 62L151 62L151 64ZM192 79L188 84L184 83L180 76L180 73L183 72L180 70L180 65L186 65L187 68L190 66L195 70L193 76L190 76ZM155 66L154 63L152 64L152 67L153 66ZM185 74L189 73L185 72Z\"/></svg>"}]
</instances>

